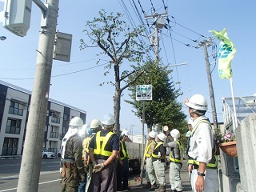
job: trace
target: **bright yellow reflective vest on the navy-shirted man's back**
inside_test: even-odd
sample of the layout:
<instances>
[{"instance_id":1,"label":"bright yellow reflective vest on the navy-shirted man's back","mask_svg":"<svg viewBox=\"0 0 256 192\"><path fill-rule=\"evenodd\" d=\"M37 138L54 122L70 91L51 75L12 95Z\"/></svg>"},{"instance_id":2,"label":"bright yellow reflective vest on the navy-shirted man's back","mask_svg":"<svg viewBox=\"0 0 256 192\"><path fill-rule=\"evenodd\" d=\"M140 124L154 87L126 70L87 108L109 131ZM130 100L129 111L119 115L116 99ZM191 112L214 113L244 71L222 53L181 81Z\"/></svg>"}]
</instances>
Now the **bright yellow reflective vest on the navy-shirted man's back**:
<instances>
[{"instance_id":1,"label":"bright yellow reflective vest on the navy-shirted man's back","mask_svg":"<svg viewBox=\"0 0 256 192\"><path fill-rule=\"evenodd\" d=\"M110 157L112 151L105 150L106 143L109 141L111 135L114 134L113 132L109 132L106 134L105 137L101 137L101 131L98 131L96 134L96 149L94 149L94 154L100 154L102 156ZM102 146L101 146L102 142Z\"/></svg>"}]
</instances>

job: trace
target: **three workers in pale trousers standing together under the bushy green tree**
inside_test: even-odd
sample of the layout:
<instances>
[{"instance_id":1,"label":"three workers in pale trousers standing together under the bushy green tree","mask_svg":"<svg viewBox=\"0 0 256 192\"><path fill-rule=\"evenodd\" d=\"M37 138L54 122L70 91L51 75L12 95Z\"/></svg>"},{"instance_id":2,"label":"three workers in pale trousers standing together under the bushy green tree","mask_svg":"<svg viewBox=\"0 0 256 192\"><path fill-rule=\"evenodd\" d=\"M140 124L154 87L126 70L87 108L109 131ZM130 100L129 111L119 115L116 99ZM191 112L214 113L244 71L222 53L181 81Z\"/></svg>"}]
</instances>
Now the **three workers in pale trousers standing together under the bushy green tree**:
<instances>
[{"instance_id":1,"label":"three workers in pale trousers standing together under the bushy green tree","mask_svg":"<svg viewBox=\"0 0 256 192\"><path fill-rule=\"evenodd\" d=\"M167 138L171 142L167 142ZM170 186L173 191L182 191L182 180L180 170L182 168L180 132L177 129L170 133L156 135L151 131L148 135L148 145L145 150L146 156L146 188L150 191L166 192L165 166L166 147L170 148ZM159 187L157 186L157 182Z\"/></svg>"}]
</instances>

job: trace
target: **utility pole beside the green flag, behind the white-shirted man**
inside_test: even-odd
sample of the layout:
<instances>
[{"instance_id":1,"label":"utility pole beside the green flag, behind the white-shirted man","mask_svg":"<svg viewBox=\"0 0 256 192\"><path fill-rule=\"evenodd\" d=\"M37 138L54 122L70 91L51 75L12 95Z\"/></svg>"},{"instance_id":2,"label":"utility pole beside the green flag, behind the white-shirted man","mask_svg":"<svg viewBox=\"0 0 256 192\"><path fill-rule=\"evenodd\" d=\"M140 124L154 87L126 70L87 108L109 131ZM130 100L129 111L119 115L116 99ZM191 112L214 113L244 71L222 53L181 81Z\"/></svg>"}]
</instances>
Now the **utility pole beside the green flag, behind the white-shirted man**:
<instances>
[{"instance_id":1,"label":"utility pole beside the green flag, behind the white-shirted man","mask_svg":"<svg viewBox=\"0 0 256 192\"><path fill-rule=\"evenodd\" d=\"M207 71L209 90L210 90L210 103L211 103L211 109L212 109L213 120L214 120L214 129L216 129L218 127L218 120L217 120L217 113L216 113L216 106L215 106L215 99L214 99L213 82L212 82L211 74L210 74L209 55L208 55L208 51L207 51L207 46L212 45L211 39L204 40L199 45L203 46L203 50L205 52L206 71Z\"/></svg>"}]
</instances>

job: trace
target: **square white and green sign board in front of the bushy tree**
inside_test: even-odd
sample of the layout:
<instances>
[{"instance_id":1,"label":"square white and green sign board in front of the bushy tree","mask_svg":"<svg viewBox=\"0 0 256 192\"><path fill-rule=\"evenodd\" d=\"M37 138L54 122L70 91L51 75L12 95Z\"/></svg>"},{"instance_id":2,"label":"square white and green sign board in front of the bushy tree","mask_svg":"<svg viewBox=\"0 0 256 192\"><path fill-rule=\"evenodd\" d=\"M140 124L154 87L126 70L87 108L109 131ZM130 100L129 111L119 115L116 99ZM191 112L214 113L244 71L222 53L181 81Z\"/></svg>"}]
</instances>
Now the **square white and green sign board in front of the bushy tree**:
<instances>
[{"instance_id":1,"label":"square white and green sign board in front of the bushy tree","mask_svg":"<svg viewBox=\"0 0 256 192\"><path fill-rule=\"evenodd\" d=\"M137 101L151 101L152 100L152 85L136 86L136 100Z\"/></svg>"}]
</instances>

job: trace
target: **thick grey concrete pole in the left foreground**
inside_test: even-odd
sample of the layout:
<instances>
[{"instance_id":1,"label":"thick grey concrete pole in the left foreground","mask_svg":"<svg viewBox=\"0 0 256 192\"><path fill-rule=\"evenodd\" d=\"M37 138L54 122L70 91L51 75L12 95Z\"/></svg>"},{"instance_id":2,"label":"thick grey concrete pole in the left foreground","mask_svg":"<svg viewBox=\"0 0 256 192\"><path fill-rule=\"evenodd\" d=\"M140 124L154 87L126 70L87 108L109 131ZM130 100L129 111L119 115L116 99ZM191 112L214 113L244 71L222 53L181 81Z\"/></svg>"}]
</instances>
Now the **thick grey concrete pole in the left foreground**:
<instances>
[{"instance_id":1,"label":"thick grey concrete pole in the left foreground","mask_svg":"<svg viewBox=\"0 0 256 192\"><path fill-rule=\"evenodd\" d=\"M41 1L33 1L37 5L41 5ZM46 10L46 18L42 16L34 86L22 154L22 165L18 177L18 192L38 191L42 144L50 90L50 75L54 54L54 39L58 18L58 2L59 0L47 0L46 9L40 7L40 9Z\"/></svg>"}]
</instances>

